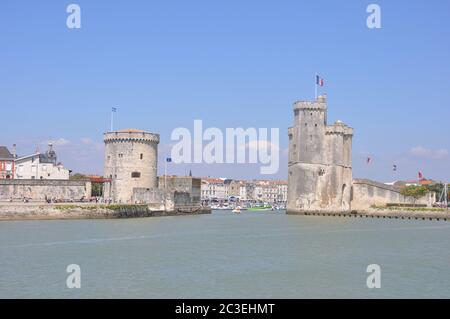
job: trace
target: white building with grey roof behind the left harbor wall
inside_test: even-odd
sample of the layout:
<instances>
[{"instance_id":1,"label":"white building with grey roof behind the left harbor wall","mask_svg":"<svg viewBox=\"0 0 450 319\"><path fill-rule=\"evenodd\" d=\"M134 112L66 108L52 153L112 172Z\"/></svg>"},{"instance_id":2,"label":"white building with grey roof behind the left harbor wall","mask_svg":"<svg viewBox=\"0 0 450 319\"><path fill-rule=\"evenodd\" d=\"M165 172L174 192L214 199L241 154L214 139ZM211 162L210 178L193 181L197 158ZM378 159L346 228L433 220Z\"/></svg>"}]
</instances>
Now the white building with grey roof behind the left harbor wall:
<instances>
[{"instance_id":1,"label":"white building with grey roof behind the left harbor wall","mask_svg":"<svg viewBox=\"0 0 450 319\"><path fill-rule=\"evenodd\" d=\"M14 162L15 179L56 179L68 180L70 171L58 163L52 144L49 150L17 158Z\"/></svg>"}]
</instances>

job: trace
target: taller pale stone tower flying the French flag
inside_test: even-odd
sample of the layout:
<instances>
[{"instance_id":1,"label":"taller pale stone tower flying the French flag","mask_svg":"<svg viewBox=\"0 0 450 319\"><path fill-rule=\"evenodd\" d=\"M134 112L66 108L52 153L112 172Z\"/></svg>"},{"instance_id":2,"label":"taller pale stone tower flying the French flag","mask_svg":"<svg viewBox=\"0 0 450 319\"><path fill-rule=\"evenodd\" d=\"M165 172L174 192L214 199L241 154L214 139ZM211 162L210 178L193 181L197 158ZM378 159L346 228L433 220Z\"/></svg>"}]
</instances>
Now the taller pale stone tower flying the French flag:
<instances>
[{"instance_id":1,"label":"taller pale stone tower flying the French flag","mask_svg":"<svg viewBox=\"0 0 450 319\"><path fill-rule=\"evenodd\" d=\"M353 129L327 125L327 96L294 103L289 128L288 214L349 211Z\"/></svg>"}]
</instances>

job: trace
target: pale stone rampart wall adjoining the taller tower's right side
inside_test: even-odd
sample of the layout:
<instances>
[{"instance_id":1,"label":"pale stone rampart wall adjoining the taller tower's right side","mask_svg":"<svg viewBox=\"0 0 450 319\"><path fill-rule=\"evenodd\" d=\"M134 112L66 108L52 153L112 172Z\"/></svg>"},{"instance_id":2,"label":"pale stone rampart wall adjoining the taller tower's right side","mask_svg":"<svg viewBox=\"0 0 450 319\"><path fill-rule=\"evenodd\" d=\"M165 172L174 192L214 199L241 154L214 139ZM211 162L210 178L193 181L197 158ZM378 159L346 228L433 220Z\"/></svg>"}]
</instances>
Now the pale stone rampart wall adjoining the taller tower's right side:
<instances>
[{"instance_id":1,"label":"pale stone rampart wall adjoining the taller tower's right side","mask_svg":"<svg viewBox=\"0 0 450 319\"><path fill-rule=\"evenodd\" d=\"M413 197L403 196L397 187L385 185L368 179L355 179L352 188L352 210L367 210L372 206L386 204L419 204L431 207L435 194L428 193L414 201Z\"/></svg>"}]
</instances>

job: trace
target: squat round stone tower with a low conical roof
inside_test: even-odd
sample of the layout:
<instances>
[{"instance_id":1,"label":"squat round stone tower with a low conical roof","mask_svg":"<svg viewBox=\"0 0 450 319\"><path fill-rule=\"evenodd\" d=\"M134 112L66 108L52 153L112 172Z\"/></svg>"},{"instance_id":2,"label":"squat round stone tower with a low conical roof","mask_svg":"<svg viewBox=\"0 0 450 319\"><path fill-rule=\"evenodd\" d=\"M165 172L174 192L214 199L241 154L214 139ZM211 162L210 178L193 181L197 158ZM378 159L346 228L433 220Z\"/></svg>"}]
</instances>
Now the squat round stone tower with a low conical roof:
<instances>
[{"instance_id":1,"label":"squat round stone tower with a low conical roof","mask_svg":"<svg viewBox=\"0 0 450 319\"><path fill-rule=\"evenodd\" d=\"M134 188L158 187L158 134L121 130L105 133L104 142L105 199L131 203Z\"/></svg>"}]
</instances>

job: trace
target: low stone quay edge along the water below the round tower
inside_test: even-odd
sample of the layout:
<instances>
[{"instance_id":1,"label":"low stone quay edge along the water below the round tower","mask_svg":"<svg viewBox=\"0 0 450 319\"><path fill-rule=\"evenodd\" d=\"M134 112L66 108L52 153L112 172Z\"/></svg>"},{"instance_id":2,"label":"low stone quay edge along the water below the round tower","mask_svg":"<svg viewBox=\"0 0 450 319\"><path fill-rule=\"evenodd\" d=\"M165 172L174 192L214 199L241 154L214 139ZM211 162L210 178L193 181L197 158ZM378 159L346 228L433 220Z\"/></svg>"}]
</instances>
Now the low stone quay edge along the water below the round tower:
<instances>
[{"instance_id":1,"label":"low stone quay edge along the water below the round tower","mask_svg":"<svg viewBox=\"0 0 450 319\"><path fill-rule=\"evenodd\" d=\"M0 205L1 221L129 219L211 214L203 207L180 207L166 211L148 205L96 205L21 203Z\"/></svg>"}]
</instances>

